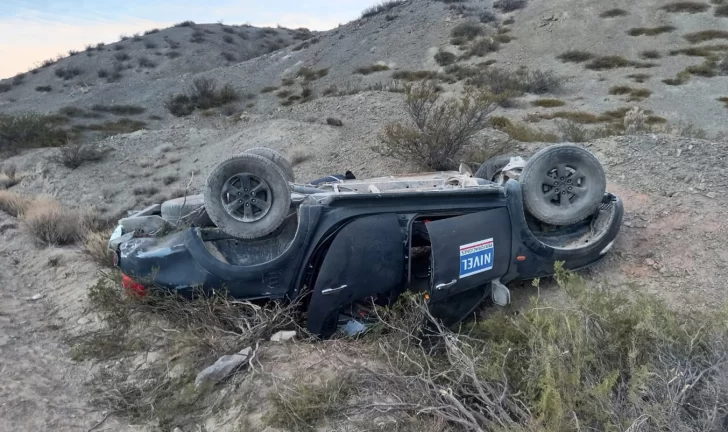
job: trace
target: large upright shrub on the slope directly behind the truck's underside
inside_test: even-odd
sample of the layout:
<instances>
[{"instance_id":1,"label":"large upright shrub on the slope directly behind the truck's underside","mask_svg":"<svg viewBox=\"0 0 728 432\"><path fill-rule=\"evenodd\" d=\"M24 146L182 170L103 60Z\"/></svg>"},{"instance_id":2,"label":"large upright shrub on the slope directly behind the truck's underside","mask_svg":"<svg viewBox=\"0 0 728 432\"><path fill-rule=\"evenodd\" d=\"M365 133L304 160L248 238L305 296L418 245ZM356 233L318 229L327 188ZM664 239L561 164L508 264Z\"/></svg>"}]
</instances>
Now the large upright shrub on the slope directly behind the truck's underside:
<instances>
[{"instance_id":1,"label":"large upright shrub on the slope directly behind the truck's underside","mask_svg":"<svg viewBox=\"0 0 728 432\"><path fill-rule=\"evenodd\" d=\"M460 99L443 100L432 82L407 86L410 121L386 125L376 150L421 168L452 168L475 133L488 125L498 102L489 92L472 90Z\"/></svg>"}]
</instances>

